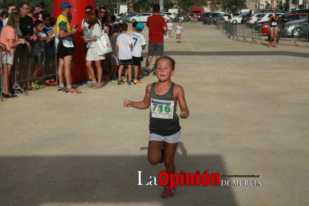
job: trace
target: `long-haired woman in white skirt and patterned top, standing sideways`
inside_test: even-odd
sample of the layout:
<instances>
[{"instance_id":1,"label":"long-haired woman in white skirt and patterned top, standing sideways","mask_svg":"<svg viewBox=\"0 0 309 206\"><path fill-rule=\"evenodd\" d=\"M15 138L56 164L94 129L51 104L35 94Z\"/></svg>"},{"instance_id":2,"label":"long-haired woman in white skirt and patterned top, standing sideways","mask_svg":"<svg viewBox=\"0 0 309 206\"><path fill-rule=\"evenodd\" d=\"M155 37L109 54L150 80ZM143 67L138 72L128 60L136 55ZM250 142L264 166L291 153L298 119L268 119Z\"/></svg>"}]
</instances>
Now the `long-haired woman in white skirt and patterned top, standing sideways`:
<instances>
[{"instance_id":1,"label":"long-haired woman in white skirt and patterned top, standing sideways","mask_svg":"<svg viewBox=\"0 0 309 206\"><path fill-rule=\"evenodd\" d=\"M91 74L92 81L87 84L87 87L93 87L95 89L102 88L102 66L101 60L104 59L104 55L99 55L96 48L97 39L102 35L102 29L99 25L99 21L96 18L95 14L88 12L86 15L86 22L89 24L89 31L83 37L83 40L87 42L87 56L86 56L86 67L88 68L89 73ZM95 67L98 72L98 81L95 79L95 71L92 67L92 61L95 61Z\"/></svg>"}]
</instances>

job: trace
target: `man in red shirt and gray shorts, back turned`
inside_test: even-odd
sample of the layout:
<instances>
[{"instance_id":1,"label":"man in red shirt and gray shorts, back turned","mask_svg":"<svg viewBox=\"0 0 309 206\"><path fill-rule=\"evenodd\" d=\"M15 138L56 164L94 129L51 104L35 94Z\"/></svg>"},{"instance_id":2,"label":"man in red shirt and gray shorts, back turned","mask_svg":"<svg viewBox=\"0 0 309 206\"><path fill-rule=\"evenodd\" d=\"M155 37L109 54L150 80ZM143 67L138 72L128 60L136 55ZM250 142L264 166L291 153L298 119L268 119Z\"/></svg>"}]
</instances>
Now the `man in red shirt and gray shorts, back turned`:
<instances>
[{"instance_id":1,"label":"man in red shirt and gray shorts, back turned","mask_svg":"<svg viewBox=\"0 0 309 206\"><path fill-rule=\"evenodd\" d=\"M147 27L149 28L149 44L148 44L148 57L146 60L146 70L144 74L149 75L149 65L153 56L156 55L156 60L163 56L164 41L163 33L167 31L167 25L162 16L159 16L160 5L153 6L153 14L147 19ZM155 71L153 73L155 76Z\"/></svg>"}]
</instances>

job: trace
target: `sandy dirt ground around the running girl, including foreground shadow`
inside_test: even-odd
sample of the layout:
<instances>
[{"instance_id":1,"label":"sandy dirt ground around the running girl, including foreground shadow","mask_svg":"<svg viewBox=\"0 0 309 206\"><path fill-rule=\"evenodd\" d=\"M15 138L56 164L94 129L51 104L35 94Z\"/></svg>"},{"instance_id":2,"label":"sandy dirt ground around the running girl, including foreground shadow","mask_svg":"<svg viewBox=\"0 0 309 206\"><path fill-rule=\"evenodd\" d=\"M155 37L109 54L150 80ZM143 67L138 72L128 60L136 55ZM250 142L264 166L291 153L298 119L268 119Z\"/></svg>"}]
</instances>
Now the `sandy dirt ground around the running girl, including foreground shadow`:
<instances>
[{"instance_id":1,"label":"sandy dirt ground around the running girl, including foreground shadow","mask_svg":"<svg viewBox=\"0 0 309 206\"><path fill-rule=\"evenodd\" d=\"M182 26L182 42L173 33L164 44L190 110L180 120L176 172L259 175L221 180L261 186L179 186L168 200L161 186L137 186L137 171L147 182L164 170L147 160L149 110L123 107L142 100L156 81L149 76L134 86L105 80L72 95L46 87L1 102L0 205L309 205L309 49ZM148 42L146 26L143 33ZM143 68L146 56L147 47Z\"/></svg>"}]
</instances>

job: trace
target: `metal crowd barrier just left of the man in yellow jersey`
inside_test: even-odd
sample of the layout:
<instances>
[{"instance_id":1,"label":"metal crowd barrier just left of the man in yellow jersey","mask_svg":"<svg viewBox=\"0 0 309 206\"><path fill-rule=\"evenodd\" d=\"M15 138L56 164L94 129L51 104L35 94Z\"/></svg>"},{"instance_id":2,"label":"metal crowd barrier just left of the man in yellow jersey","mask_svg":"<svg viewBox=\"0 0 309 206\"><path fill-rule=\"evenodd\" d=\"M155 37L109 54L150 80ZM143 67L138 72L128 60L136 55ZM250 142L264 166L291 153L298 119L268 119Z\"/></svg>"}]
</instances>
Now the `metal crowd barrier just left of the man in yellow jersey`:
<instances>
[{"instance_id":1,"label":"metal crowd barrier just left of the man in yellow jersey","mask_svg":"<svg viewBox=\"0 0 309 206\"><path fill-rule=\"evenodd\" d=\"M30 51L28 51L26 44L18 46L14 56L14 89L20 89L25 95L28 95L22 88L23 85L27 89L27 84L53 76L57 82L57 53L54 42L50 41L49 44L45 44L45 41L29 42Z\"/></svg>"}]
</instances>

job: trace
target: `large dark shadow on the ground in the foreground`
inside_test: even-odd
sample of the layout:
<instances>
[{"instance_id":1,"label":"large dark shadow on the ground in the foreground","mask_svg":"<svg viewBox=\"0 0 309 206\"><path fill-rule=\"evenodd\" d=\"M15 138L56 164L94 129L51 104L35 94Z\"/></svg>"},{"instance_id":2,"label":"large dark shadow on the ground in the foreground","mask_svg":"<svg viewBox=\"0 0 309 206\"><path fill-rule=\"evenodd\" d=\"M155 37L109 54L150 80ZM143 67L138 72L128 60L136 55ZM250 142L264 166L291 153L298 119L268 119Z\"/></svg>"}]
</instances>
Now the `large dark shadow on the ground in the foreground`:
<instances>
[{"instance_id":1,"label":"large dark shadow on the ground in the foreground","mask_svg":"<svg viewBox=\"0 0 309 206\"><path fill-rule=\"evenodd\" d=\"M141 150L146 148L141 148ZM227 174L218 155L187 155L183 145L176 171ZM175 198L163 200L161 186L137 186L158 177L164 165L151 166L142 156L21 156L0 157L0 205L160 204L237 205L231 187L176 187ZM220 179L224 180L224 179ZM67 205L67 204L66 204Z\"/></svg>"}]
</instances>

